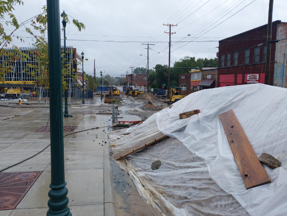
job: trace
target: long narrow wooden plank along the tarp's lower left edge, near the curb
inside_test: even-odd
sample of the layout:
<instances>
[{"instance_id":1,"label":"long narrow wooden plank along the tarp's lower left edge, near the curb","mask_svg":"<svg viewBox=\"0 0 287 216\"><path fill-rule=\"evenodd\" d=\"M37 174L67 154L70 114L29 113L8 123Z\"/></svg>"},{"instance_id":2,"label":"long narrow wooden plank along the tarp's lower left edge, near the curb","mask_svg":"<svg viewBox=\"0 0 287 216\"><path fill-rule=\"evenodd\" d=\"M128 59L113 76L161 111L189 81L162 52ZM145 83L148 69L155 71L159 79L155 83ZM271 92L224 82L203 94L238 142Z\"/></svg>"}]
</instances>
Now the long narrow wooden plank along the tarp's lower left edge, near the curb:
<instances>
[{"instance_id":1,"label":"long narrow wooden plank along the tarp's lower left edge, near the curb","mask_svg":"<svg viewBox=\"0 0 287 216\"><path fill-rule=\"evenodd\" d=\"M122 158L125 158L126 156L128 156L128 155L130 155L130 154L132 154L134 152L137 152L137 151L139 151L139 150L141 150L141 149L143 149L143 148L145 148L145 147L147 147L147 146L149 146L151 144L154 144L154 143L162 140L165 137L167 137L167 136L165 136L162 133L159 133L156 136L147 138L147 139L141 141L139 144L135 144L134 146L129 147L126 150L124 150L124 151L122 151L122 152L120 152L118 154L115 154L113 156L113 158L118 161L118 160L120 160Z\"/></svg>"}]
</instances>

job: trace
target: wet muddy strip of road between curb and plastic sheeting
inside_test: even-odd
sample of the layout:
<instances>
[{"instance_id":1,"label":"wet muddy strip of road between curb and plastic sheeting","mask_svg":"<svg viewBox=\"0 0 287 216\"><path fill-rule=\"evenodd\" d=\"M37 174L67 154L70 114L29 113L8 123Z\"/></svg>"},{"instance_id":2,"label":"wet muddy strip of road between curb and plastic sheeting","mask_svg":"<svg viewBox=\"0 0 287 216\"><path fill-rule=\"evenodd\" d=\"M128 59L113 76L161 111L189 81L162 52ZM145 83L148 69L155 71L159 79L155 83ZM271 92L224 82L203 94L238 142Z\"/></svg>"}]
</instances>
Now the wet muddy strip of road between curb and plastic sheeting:
<instances>
[{"instance_id":1,"label":"wet muddy strip of road between curb and plastic sheeting","mask_svg":"<svg viewBox=\"0 0 287 216\"><path fill-rule=\"evenodd\" d=\"M139 195L133 181L110 157L117 216L154 216Z\"/></svg>"}]
</instances>

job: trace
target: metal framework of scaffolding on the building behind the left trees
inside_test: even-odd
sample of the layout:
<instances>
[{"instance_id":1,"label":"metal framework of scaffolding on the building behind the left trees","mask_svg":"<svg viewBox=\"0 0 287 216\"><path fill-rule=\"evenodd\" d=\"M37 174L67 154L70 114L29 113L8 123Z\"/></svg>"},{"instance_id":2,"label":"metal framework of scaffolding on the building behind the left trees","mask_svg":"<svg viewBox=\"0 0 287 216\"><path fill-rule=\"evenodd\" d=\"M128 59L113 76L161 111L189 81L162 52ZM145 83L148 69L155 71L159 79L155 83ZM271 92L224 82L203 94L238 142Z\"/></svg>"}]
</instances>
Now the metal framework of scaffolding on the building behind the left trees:
<instances>
[{"instance_id":1,"label":"metal framework of scaffolding on the building behind the left trees","mask_svg":"<svg viewBox=\"0 0 287 216\"><path fill-rule=\"evenodd\" d=\"M29 56L29 58L24 59L22 55L19 55L19 56L17 55L15 56L15 58L12 58L13 60L9 61L8 63L8 61L6 60L7 59L6 56L4 55L0 56L1 65L3 66L12 65L13 66L13 70L11 72L6 72L3 75L4 80L5 81L19 81L19 82L25 82L25 81L36 82L35 76L31 75L31 71L33 69L28 67L28 64L37 65L37 62L34 59L34 55L37 52L36 47L21 47L18 49L20 50L20 52ZM13 48L8 48L6 50L13 51ZM61 54L64 54L63 46L61 47ZM66 46L67 64L70 64L70 75L68 76L66 80L68 84L68 97L69 98L75 97L76 89L78 89L77 81L74 80L74 76L77 73L76 54L77 54L76 49L74 49L72 46ZM64 63L62 64L62 67L64 67ZM45 89L41 86L35 85L35 90L41 93L41 97L49 97L49 89ZM64 97L64 94L63 94L63 97Z\"/></svg>"}]
</instances>

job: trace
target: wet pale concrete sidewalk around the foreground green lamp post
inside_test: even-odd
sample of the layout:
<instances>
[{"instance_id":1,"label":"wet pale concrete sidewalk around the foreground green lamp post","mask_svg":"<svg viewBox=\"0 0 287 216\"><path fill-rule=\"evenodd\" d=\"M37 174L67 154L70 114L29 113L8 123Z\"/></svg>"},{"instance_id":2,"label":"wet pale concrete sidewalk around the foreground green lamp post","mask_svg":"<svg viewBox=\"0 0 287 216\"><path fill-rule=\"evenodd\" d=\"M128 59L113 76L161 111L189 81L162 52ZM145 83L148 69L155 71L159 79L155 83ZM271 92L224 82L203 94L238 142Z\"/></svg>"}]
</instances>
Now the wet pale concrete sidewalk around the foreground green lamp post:
<instances>
[{"instance_id":1,"label":"wet pale concrete sidewalk around the foreground green lamp post","mask_svg":"<svg viewBox=\"0 0 287 216\"><path fill-rule=\"evenodd\" d=\"M34 132L47 125L49 112L23 111L22 114L0 122L0 169L31 157L50 144L50 132ZM109 123L105 115L72 115L73 118L64 118L64 126L77 126L74 132ZM71 132L64 132L68 135L64 137L68 206L74 216L115 215L107 131L107 127L103 127L71 135ZM16 209L0 211L0 216L45 216L51 183L50 147L3 172L20 171L43 172Z\"/></svg>"}]
</instances>

